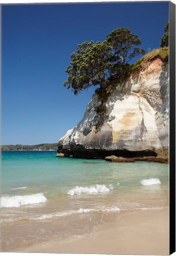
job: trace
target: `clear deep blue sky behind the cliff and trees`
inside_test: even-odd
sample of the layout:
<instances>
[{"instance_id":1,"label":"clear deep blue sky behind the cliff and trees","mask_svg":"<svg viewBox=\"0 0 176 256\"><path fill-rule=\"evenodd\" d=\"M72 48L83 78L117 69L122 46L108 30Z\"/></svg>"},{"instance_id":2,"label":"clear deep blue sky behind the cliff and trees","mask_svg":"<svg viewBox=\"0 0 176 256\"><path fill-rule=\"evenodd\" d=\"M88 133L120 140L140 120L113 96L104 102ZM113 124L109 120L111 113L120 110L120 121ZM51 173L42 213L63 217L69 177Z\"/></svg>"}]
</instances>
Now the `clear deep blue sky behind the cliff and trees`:
<instances>
[{"instance_id":1,"label":"clear deep blue sky behind the cliff and trees","mask_svg":"<svg viewBox=\"0 0 176 256\"><path fill-rule=\"evenodd\" d=\"M70 54L85 40L130 28L159 47L169 2L2 5L2 145L55 143L83 117L94 88L63 87Z\"/></svg>"}]
</instances>

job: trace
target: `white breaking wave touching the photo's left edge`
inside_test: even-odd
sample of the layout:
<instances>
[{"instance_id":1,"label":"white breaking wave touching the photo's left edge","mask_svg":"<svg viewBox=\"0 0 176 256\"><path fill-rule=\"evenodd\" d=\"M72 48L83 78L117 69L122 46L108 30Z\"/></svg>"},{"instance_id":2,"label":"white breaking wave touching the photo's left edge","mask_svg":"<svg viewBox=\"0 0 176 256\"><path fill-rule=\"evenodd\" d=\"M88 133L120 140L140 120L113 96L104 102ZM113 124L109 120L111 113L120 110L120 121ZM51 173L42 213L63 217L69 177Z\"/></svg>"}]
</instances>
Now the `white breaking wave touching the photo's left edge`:
<instances>
[{"instance_id":1,"label":"white breaking wave touching the photo's left edge","mask_svg":"<svg viewBox=\"0 0 176 256\"><path fill-rule=\"evenodd\" d=\"M1 197L1 208L20 207L27 204L39 204L47 201L43 193L31 194L27 196Z\"/></svg>"}]
</instances>

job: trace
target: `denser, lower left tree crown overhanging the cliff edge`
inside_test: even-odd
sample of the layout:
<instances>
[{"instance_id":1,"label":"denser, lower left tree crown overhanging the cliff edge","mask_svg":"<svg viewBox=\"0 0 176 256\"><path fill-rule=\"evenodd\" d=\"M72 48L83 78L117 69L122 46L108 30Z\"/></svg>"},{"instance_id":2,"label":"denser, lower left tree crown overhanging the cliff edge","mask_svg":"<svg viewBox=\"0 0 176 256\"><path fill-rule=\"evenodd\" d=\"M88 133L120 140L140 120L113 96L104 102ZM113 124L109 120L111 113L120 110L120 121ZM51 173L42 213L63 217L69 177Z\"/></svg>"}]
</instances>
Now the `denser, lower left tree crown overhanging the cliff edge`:
<instances>
[{"instance_id":1,"label":"denser, lower left tree crown overhanging the cliff edge","mask_svg":"<svg viewBox=\"0 0 176 256\"><path fill-rule=\"evenodd\" d=\"M69 76L64 86L72 88L74 94L92 85L106 87L109 49L108 44L100 41L96 44L93 41L79 44L76 52L71 54L71 66L66 70Z\"/></svg>"}]
</instances>

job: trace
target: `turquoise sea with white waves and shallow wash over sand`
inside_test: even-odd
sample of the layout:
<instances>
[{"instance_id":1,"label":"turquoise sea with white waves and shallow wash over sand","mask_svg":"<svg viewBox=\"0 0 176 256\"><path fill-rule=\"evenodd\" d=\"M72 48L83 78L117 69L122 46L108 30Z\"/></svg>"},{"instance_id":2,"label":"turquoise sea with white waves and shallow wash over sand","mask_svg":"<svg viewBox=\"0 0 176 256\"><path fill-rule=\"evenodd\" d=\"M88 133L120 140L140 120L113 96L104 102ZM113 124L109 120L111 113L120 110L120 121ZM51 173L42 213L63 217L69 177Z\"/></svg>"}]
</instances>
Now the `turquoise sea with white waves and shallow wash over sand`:
<instances>
[{"instance_id":1,"label":"turquoise sea with white waves and shallow wash over sand","mask_svg":"<svg viewBox=\"0 0 176 256\"><path fill-rule=\"evenodd\" d=\"M2 251L93 235L121 212L168 207L168 164L2 152Z\"/></svg>"}]
</instances>

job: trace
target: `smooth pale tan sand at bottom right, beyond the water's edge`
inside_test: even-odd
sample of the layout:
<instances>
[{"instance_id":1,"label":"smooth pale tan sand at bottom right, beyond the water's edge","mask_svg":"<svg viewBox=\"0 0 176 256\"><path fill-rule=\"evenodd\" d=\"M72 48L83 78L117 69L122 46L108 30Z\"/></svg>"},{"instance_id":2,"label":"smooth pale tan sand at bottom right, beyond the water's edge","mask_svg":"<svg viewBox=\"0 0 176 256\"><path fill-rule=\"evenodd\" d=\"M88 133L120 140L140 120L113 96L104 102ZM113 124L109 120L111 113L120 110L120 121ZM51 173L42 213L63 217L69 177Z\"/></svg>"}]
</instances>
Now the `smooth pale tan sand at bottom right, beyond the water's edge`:
<instances>
[{"instance_id":1,"label":"smooth pale tan sand at bottom right, beyond the water's edge","mask_svg":"<svg viewBox=\"0 0 176 256\"><path fill-rule=\"evenodd\" d=\"M48 241L20 252L168 255L168 216L167 207L121 212L114 223L97 228L92 236Z\"/></svg>"}]
</instances>

